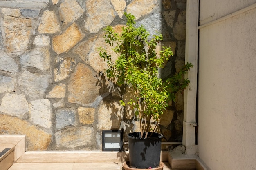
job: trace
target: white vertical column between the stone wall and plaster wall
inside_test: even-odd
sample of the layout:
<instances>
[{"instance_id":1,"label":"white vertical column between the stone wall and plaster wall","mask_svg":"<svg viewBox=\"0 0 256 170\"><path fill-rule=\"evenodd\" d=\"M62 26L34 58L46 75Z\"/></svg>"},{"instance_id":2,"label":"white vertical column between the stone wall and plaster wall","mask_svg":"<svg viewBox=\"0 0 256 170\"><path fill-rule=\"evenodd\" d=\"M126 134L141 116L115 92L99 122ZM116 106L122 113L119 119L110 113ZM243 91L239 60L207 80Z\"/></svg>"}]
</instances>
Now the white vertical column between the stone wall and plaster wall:
<instances>
[{"instance_id":1,"label":"white vertical column between the stone wall and plaster wall","mask_svg":"<svg viewBox=\"0 0 256 170\"><path fill-rule=\"evenodd\" d=\"M186 51L185 62L191 62L194 66L185 78L190 80L189 86L184 91L184 119L183 140L184 152L195 154L195 126L196 126L196 97L198 74L198 15L199 0L187 0L186 8Z\"/></svg>"}]
</instances>

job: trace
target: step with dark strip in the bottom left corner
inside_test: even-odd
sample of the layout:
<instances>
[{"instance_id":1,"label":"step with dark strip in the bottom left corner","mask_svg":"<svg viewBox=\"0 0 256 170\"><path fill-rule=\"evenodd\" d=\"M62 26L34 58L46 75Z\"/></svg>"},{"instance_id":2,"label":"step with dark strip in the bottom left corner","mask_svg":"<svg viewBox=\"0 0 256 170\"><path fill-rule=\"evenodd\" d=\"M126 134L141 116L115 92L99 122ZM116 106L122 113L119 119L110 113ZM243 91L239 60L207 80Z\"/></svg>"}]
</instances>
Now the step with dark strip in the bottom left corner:
<instances>
[{"instance_id":1,"label":"step with dark strip in the bottom left corner","mask_svg":"<svg viewBox=\"0 0 256 170\"><path fill-rule=\"evenodd\" d=\"M8 170L14 162L14 147L0 146L0 169Z\"/></svg>"}]
</instances>

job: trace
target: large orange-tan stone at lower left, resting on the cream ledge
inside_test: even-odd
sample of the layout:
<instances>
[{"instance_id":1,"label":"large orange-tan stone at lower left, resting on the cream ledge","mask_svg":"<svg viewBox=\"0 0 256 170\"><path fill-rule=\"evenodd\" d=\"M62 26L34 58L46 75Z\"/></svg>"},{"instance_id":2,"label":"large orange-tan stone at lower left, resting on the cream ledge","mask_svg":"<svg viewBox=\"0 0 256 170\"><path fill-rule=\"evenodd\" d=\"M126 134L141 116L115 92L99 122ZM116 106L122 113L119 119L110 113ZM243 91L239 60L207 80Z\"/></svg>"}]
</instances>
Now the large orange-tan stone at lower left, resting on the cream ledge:
<instances>
[{"instance_id":1,"label":"large orange-tan stone at lower left, resting on the cream ledge","mask_svg":"<svg viewBox=\"0 0 256 170\"><path fill-rule=\"evenodd\" d=\"M51 134L17 117L0 115L0 132L6 134L25 134L27 150L47 150Z\"/></svg>"}]
</instances>

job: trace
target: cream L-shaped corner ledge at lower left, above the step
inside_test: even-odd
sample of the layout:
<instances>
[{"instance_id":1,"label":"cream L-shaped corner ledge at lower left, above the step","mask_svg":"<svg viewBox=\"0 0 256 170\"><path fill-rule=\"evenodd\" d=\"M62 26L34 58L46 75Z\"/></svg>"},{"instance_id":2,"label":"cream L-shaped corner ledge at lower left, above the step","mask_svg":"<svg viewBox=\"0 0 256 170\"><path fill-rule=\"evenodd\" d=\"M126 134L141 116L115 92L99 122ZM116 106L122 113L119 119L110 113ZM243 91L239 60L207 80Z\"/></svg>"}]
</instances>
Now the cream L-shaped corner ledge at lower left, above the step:
<instances>
[{"instance_id":1,"label":"cream L-shaped corner ledge at lower left, above the step","mask_svg":"<svg viewBox=\"0 0 256 170\"><path fill-rule=\"evenodd\" d=\"M14 147L14 161L26 151L25 135L0 135L0 146Z\"/></svg>"}]
</instances>

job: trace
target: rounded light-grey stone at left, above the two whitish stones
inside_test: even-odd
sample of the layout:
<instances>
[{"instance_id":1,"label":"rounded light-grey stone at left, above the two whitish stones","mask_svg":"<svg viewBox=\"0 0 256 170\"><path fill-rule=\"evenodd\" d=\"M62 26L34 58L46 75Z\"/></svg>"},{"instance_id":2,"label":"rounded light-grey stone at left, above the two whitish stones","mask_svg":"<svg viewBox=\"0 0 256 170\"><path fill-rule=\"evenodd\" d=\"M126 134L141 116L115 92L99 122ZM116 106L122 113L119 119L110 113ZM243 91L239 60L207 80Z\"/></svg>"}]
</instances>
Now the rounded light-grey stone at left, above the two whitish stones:
<instances>
[{"instance_id":1,"label":"rounded light-grey stone at left, above the two whitish stones","mask_svg":"<svg viewBox=\"0 0 256 170\"><path fill-rule=\"evenodd\" d=\"M22 93L33 97L34 99L40 99L44 97L45 91L49 86L50 76L30 73L24 71L20 77L18 77L18 84Z\"/></svg>"}]
</instances>

